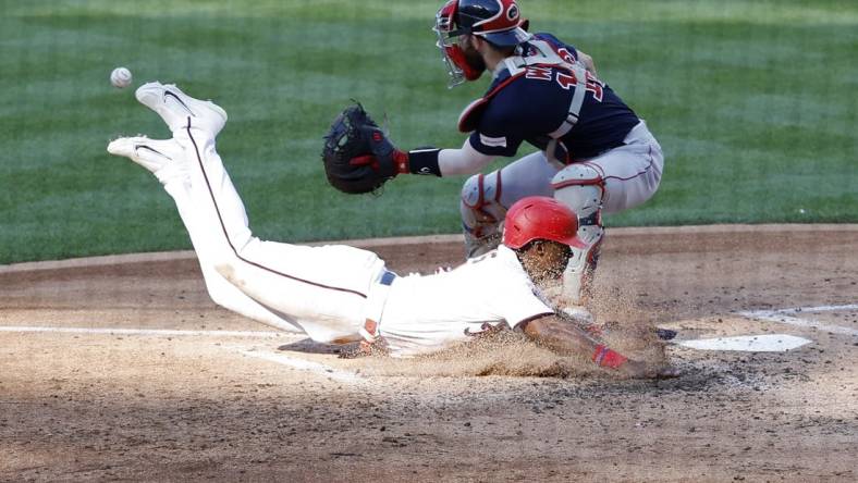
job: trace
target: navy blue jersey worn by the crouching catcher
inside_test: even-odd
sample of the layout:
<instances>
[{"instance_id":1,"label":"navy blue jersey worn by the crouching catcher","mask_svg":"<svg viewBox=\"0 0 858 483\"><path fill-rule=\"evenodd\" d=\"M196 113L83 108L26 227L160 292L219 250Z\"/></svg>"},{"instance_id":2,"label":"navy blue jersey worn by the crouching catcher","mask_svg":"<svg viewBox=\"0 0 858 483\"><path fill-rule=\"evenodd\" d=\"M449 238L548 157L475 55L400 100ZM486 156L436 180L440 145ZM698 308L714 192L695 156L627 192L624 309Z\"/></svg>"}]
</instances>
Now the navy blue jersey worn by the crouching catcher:
<instances>
[{"instance_id":1,"label":"navy blue jersey worn by the crouching catcher","mask_svg":"<svg viewBox=\"0 0 858 483\"><path fill-rule=\"evenodd\" d=\"M568 62L577 60L577 50L554 36L537 34L535 38L550 44ZM488 90L493 94L487 94L490 100L470 135L470 144L490 156L514 156L523 141L546 149L548 134L556 131L568 114L575 89L574 76L559 66L529 66L516 78L498 76ZM588 76L578 121L559 140L569 159L591 158L622 145L638 122L635 112L606 84Z\"/></svg>"}]
</instances>

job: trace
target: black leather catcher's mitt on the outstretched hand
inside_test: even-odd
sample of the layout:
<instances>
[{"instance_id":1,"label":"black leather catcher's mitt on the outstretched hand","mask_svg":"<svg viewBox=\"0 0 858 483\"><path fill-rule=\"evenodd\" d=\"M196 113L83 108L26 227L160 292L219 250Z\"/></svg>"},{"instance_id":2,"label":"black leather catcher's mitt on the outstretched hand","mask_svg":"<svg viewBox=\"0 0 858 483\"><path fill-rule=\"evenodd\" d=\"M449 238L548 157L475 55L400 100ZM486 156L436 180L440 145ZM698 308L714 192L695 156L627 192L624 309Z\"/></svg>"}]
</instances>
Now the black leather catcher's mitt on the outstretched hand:
<instances>
[{"instance_id":1,"label":"black leather catcher's mitt on the outstretched hand","mask_svg":"<svg viewBox=\"0 0 858 483\"><path fill-rule=\"evenodd\" d=\"M321 156L328 182L343 193L375 191L396 175L393 151L364 107L350 106L324 136Z\"/></svg>"}]
</instances>

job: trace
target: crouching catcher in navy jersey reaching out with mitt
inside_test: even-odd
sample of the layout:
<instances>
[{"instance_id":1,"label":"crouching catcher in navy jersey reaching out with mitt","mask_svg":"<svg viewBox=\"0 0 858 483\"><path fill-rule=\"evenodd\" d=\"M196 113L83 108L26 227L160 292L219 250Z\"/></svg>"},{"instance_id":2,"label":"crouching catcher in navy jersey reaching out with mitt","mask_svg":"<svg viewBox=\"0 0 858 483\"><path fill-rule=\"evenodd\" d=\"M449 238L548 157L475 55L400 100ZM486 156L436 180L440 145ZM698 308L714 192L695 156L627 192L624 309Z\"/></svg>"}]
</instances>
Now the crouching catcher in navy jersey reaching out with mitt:
<instances>
[{"instance_id":1,"label":"crouching catcher in navy jersey reaching out with mitt","mask_svg":"<svg viewBox=\"0 0 858 483\"><path fill-rule=\"evenodd\" d=\"M373 190L406 173L473 175L461 201L468 257L498 246L515 201L553 196L577 213L586 245L573 249L563 292L569 309L591 317L584 306L604 233L601 214L651 198L664 158L646 123L597 77L589 55L527 27L515 0L446 1L434 30L451 87L486 71L491 75L483 97L459 116L458 129L469 133L465 144L399 150L361 109L348 109L329 137L326 168L331 184L345 193ZM524 141L539 151L477 174L495 157L515 156Z\"/></svg>"}]
</instances>

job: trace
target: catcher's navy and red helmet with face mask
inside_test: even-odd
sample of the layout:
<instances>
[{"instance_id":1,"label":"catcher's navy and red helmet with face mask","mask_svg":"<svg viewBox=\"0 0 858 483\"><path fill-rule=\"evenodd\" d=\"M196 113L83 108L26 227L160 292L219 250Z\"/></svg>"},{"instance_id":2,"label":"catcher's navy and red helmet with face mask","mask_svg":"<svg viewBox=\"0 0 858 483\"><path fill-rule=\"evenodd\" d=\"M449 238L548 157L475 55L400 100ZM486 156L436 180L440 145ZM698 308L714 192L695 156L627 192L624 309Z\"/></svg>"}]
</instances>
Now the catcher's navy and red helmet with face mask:
<instances>
[{"instance_id":1,"label":"catcher's navy and red helmet with face mask","mask_svg":"<svg viewBox=\"0 0 858 483\"><path fill-rule=\"evenodd\" d=\"M513 47L530 38L515 0L448 0L436 14L433 30L438 34L450 87L476 81L486 70L469 63L456 37L478 35L499 47Z\"/></svg>"}]
</instances>

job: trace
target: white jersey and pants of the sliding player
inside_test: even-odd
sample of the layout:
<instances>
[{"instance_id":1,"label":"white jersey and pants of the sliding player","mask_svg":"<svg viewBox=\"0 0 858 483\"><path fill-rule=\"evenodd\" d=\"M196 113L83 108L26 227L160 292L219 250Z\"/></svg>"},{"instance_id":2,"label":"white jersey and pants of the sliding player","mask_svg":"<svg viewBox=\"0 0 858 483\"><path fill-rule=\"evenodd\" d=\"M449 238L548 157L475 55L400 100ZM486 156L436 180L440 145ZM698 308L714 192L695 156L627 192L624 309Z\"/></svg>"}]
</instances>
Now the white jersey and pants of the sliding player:
<instances>
[{"instance_id":1,"label":"white jersey and pants of the sliding player","mask_svg":"<svg viewBox=\"0 0 858 483\"><path fill-rule=\"evenodd\" d=\"M468 340L486 323L515 326L554 313L515 252L503 246L449 272L395 277L370 251L262 242L248 228L213 136L188 127L174 137L184 149L189 183L166 187L195 249L205 253L200 264L241 290L219 290L216 301L224 307L255 317L258 310L242 308L261 305L267 311L255 317L260 322L296 325L323 343L357 340L366 320L373 320L394 356ZM270 314L282 323L272 323Z\"/></svg>"}]
</instances>

